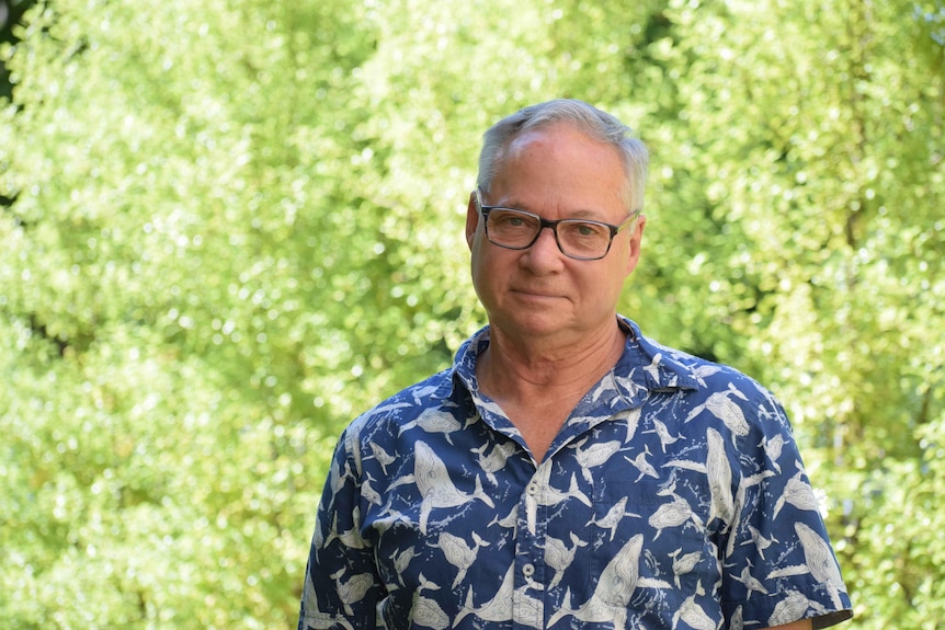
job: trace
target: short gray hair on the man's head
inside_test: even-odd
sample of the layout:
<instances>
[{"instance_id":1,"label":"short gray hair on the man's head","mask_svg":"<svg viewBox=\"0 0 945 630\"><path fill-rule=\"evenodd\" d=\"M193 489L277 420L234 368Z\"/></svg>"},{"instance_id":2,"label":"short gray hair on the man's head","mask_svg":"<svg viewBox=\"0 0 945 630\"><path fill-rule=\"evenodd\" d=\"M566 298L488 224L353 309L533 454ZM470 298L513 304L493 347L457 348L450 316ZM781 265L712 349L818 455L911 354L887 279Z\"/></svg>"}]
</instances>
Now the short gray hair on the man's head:
<instances>
[{"instance_id":1,"label":"short gray hair on the man's head","mask_svg":"<svg viewBox=\"0 0 945 630\"><path fill-rule=\"evenodd\" d=\"M627 179L626 190L620 191L620 197L629 206L629 211L642 209L649 162L646 146L631 137L630 128L615 116L573 99L558 99L531 105L492 125L482 136L479 176L476 181L479 188L483 193L491 190L492 181L501 167L503 151L512 140L525 131L556 123L572 125L589 138L612 146L620 157Z\"/></svg>"}]
</instances>

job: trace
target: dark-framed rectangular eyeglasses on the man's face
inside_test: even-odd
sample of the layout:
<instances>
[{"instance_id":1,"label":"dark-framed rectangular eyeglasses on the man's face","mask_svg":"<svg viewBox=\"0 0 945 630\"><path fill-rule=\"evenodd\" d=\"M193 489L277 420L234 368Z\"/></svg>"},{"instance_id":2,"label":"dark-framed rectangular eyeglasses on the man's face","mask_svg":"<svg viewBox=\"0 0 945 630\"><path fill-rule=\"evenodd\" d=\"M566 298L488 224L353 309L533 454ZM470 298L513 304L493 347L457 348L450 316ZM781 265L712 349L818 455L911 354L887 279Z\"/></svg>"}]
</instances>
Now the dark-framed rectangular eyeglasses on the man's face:
<instances>
[{"instance_id":1,"label":"dark-framed rectangular eyeglasses on the man's face","mask_svg":"<svg viewBox=\"0 0 945 630\"><path fill-rule=\"evenodd\" d=\"M618 226L584 219L549 221L525 210L486 206L478 188L476 203L486 220L486 238L493 245L509 250L527 250L538 240L542 230L550 228L561 253L579 261L596 261L607 255L614 237L640 214L640 210L634 211Z\"/></svg>"}]
</instances>

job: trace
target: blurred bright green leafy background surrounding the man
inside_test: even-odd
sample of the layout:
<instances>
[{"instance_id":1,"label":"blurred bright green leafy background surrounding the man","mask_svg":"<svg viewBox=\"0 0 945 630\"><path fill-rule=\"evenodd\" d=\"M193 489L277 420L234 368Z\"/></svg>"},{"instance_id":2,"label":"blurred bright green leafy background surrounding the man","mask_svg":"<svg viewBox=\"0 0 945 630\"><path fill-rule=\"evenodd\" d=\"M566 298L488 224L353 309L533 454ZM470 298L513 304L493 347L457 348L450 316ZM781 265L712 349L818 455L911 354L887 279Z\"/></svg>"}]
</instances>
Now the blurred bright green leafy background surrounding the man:
<instances>
[{"instance_id":1,"label":"blurred bright green leafy background surrounding the man","mask_svg":"<svg viewBox=\"0 0 945 630\"><path fill-rule=\"evenodd\" d=\"M335 435L485 321L482 131L652 152L622 312L793 419L856 605L945 619L943 0L0 1L0 619L294 627Z\"/></svg>"}]
</instances>

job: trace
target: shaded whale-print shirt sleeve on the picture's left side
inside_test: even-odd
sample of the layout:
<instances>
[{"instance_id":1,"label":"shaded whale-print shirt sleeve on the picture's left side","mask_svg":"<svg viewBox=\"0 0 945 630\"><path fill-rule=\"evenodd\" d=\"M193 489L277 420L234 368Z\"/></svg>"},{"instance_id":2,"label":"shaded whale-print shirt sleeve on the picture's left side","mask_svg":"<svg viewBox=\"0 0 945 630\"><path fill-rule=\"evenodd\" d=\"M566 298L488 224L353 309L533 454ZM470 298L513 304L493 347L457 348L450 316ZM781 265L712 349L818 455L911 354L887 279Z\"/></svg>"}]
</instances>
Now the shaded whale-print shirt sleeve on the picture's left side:
<instances>
[{"instance_id":1,"label":"shaded whale-print shirt sleeve on the picture's left side","mask_svg":"<svg viewBox=\"0 0 945 630\"><path fill-rule=\"evenodd\" d=\"M372 546L361 531L361 484L355 436L339 439L311 540L298 630L377 627L383 597Z\"/></svg>"}]
</instances>

